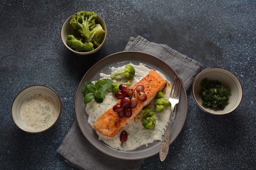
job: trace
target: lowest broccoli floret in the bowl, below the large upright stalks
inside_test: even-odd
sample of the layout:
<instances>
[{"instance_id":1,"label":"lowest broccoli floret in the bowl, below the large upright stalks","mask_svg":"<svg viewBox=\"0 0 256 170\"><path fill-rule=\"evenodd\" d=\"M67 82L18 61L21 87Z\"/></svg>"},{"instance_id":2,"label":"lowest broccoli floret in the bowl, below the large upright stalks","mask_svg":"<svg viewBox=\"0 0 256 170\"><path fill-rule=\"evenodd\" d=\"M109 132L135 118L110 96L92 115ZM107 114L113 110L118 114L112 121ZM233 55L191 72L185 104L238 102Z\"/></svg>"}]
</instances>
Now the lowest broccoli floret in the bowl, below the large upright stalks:
<instances>
[{"instance_id":1,"label":"lowest broccoli floret in the bowl, below the large upright stalks","mask_svg":"<svg viewBox=\"0 0 256 170\"><path fill-rule=\"evenodd\" d=\"M80 52L87 52L94 50L92 42L84 42L82 38L76 38L74 35L67 35L66 43L71 49Z\"/></svg>"}]
</instances>

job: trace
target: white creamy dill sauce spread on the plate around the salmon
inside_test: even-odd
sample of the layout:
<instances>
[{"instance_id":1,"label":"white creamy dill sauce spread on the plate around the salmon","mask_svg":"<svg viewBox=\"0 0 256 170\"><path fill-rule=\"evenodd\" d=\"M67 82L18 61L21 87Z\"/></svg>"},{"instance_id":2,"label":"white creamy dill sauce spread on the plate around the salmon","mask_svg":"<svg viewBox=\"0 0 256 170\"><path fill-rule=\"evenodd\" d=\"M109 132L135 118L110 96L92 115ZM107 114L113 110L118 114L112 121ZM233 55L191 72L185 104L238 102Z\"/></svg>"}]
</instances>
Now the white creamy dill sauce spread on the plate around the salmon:
<instances>
[{"instance_id":1,"label":"white creamy dill sauce spread on the plate around the salmon","mask_svg":"<svg viewBox=\"0 0 256 170\"><path fill-rule=\"evenodd\" d=\"M149 71L150 68L146 67L144 64L134 65L130 63L135 68L135 77L132 79L132 85L138 82L142 77L144 77ZM115 68L112 67L111 71L112 73L123 70L125 66ZM157 71L159 75L163 77L163 79L167 80L166 77ZM102 78L110 78L110 75L106 75L104 73L100 73L100 77ZM122 76L120 76L120 79L117 79L117 82L126 82L127 80L123 79ZM167 80L168 81L168 80ZM130 85L130 86L132 86ZM171 88L167 88L165 93L165 98L168 99L171 93ZM109 108L111 108L113 105L117 103L117 99L111 92L106 92L106 98L103 100L103 103L98 104L95 102L95 100L92 100L89 104L86 106L86 113L89 115L88 117L88 123L92 126L94 122L100 117L103 113L105 113ZM154 100L153 100L154 102ZM155 113L155 117L157 118L155 127L152 129L145 129L141 123L141 117L142 114L139 113L137 117L135 117L135 120L130 121L115 137L110 138L101 135L99 132L97 134L99 135L99 140L103 140L106 144L108 144L110 147L119 149L122 151L128 151L128 150L135 150L139 146L146 145L153 143L154 141L161 141L162 137L164 135L169 115L171 112L171 107L165 107L164 111L162 113L157 113L155 111L155 106L153 106L153 102L151 103L152 107L150 107L153 112ZM175 113L173 114L173 119L175 117ZM128 139L125 143L121 143L119 137L120 133L125 130L128 133Z\"/></svg>"}]
</instances>

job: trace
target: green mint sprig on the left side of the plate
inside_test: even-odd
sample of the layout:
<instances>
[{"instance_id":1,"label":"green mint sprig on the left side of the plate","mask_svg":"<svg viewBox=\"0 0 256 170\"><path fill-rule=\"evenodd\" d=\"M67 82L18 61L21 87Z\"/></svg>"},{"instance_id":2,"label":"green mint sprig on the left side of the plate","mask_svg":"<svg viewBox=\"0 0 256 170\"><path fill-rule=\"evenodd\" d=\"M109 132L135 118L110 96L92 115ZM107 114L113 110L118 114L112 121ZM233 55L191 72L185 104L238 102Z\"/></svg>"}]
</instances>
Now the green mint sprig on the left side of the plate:
<instances>
[{"instance_id":1,"label":"green mint sprig on the left side of the plate","mask_svg":"<svg viewBox=\"0 0 256 170\"><path fill-rule=\"evenodd\" d=\"M110 79L100 79L93 84L86 81L82 88L83 102L88 104L92 99L97 103L102 103L105 99L105 91L112 86L113 81Z\"/></svg>"}]
</instances>

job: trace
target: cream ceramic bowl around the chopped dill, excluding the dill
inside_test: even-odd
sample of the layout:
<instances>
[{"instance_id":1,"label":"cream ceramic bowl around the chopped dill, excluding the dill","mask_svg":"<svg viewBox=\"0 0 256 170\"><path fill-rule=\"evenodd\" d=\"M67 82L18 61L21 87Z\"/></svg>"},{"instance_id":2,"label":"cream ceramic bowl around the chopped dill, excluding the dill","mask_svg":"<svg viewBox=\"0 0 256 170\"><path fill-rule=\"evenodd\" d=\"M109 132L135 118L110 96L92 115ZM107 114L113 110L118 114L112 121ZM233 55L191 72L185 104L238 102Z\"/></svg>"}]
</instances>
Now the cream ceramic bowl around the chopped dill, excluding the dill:
<instances>
[{"instance_id":1,"label":"cream ceramic bowl around the chopped dill, excluding the dill","mask_svg":"<svg viewBox=\"0 0 256 170\"><path fill-rule=\"evenodd\" d=\"M200 96L199 92L201 89L200 83L204 78L207 78L209 80L218 80L219 82L230 88L231 95L229 96L229 104L225 106L224 110L213 110L210 108L204 108L204 106L202 106L202 97ZM196 104L204 112L214 115L224 115L227 113L231 113L239 106L243 98L243 88L240 81L233 73L224 68L207 68L204 71L200 72L193 81L192 91Z\"/></svg>"}]
</instances>

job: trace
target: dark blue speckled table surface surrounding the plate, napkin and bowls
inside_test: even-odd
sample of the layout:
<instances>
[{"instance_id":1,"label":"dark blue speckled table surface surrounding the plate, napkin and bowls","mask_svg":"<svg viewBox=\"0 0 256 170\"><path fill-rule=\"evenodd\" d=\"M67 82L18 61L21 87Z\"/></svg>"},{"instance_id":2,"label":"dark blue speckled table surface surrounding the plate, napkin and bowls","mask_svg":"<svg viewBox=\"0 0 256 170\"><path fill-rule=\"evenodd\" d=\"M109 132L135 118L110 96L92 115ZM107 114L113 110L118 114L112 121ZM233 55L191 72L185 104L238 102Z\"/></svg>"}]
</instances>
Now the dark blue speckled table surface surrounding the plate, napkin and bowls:
<instances>
[{"instance_id":1,"label":"dark blue speckled table surface surrounding the plate, napkin and bowls","mask_svg":"<svg viewBox=\"0 0 256 170\"><path fill-rule=\"evenodd\" d=\"M256 169L255 0L0 0L0 169L76 170L56 152L76 119L76 90L98 60L123 51L141 35L200 62L226 68L243 86L243 101L228 115L202 112L187 91L188 113L166 161L155 155L140 170ZM61 41L65 19L95 11L108 26L97 53L80 56ZM28 134L11 119L11 104L23 88L44 84L61 98L61 117L50 130Z\"/></svg>"}]
</instances>

